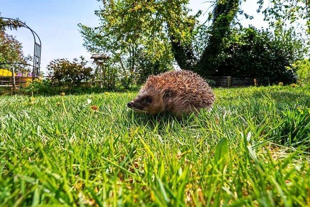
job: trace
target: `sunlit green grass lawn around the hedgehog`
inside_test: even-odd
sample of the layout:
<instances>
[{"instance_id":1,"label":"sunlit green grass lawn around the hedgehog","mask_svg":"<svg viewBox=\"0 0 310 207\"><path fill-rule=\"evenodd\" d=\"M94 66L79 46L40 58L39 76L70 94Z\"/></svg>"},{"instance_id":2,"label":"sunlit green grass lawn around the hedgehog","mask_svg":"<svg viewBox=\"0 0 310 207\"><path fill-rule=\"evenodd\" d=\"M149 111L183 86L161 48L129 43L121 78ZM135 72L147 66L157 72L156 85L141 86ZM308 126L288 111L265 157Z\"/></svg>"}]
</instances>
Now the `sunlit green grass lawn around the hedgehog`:
<instances>
[{"instance_id":1,"label":"sunlit green grass lawn around the hedgehog","mask_svg":"<svg viewBox=\"0 0 310 207\"><path fill-rule=\"evenodd\" d=\"M0 96L0 206L310 205L310 86L215 92L182 119L136 93Z\"/></svg>"}]
</instances>

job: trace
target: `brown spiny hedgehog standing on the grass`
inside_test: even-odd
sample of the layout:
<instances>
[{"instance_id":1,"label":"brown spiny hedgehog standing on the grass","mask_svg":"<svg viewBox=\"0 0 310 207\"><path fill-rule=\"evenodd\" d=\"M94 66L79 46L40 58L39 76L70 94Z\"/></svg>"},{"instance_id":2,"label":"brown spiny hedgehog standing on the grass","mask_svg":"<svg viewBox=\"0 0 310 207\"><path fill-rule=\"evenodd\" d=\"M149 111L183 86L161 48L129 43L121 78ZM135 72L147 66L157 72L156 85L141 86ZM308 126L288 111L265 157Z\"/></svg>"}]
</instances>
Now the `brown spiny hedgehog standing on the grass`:
<instances>
[{"instance_id":1,"label":"brown spiny hedgehog standing on the grass","mask_svg":"<svg viewBox=\"0 0 310 207\"><path fill-rule=\"evenodd\" d=\"M149 76L139 95L127 106L151 114L167 112L182 116L211 109L214 100L211 87L201 76L179 70Z\"/></svg>"}]
</instances>

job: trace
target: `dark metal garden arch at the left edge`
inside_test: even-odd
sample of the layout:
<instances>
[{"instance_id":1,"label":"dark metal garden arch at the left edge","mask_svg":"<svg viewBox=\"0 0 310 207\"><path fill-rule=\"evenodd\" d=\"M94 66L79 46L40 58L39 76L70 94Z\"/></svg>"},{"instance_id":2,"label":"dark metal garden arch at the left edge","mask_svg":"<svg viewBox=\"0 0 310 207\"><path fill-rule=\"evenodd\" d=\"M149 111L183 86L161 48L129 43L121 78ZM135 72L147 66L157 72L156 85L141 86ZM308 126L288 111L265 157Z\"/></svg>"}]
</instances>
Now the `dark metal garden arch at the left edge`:
<instances>
[{"instance_id":1,"label":"dark metal garden arch at the left edge","mask_svg":"<svg viewBox=\"0 0 310 207\"><path fill-rule=\"evenodd\" d=\"M39 78L40 75L40 64L41 64L41 39L38 36L36 32L34 32L27 24L24 22L13 19L13 18L6 18L6 17L0 17L0 19L4 20L3 23L0 24L0 27L6 27L6 26L13 26L13 27L24 27L31 31L34 39L34 49L33 49L33 64L24 64L24 63L0 63L0 64L24 64L32 66L32 81Z\"/></svg>"}]
</instances>

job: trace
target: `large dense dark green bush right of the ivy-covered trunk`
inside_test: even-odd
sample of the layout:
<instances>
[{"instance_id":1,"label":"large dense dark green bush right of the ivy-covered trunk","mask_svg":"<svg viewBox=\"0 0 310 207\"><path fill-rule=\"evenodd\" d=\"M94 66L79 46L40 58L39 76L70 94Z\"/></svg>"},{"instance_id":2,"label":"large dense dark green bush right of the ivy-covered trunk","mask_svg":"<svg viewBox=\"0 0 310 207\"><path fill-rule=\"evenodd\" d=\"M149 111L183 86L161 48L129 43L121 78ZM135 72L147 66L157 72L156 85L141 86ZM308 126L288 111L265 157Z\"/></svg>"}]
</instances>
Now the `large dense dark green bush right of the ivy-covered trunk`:
<instances>
[{"instance_id":1,"label":"large dense dark green bush right of the ivy-covered trunk","mask_svg":"<svg viewBox=\"0 0 310 207\"><path fill-rule=\"evenodd\" d=\"M255 28L234 30L226 42L217 76L259 78L264 85L295 81L294 70L288 68L302 58L305 48L294 31L275 36Z\"/></svg>"}]
</instances>

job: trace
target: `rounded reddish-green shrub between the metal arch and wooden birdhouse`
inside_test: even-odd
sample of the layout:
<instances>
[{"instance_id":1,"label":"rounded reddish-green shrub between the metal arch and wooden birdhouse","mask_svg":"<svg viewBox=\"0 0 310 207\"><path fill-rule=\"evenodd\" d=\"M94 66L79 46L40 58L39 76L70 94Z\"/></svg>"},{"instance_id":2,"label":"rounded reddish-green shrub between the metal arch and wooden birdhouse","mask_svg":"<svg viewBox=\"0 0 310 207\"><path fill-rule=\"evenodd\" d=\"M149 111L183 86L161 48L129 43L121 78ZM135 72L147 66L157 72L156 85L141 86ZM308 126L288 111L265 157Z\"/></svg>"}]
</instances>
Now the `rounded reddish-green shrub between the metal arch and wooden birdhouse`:
<instances>
[{"instance_id":1,"label":"rounded reddish-green shrub between the metal arch and wooden birdhouse","mask_svg":"<svg viewBox=\"0 0 310 207\"><path fill-rule=\"evenodd\" d=\"M48 78L52 85L79 86L82 81L91 79L92 68L87 67L83 57L73 62L67 59L56 59L47 65Z\"/></svg>"}]
</instances>

